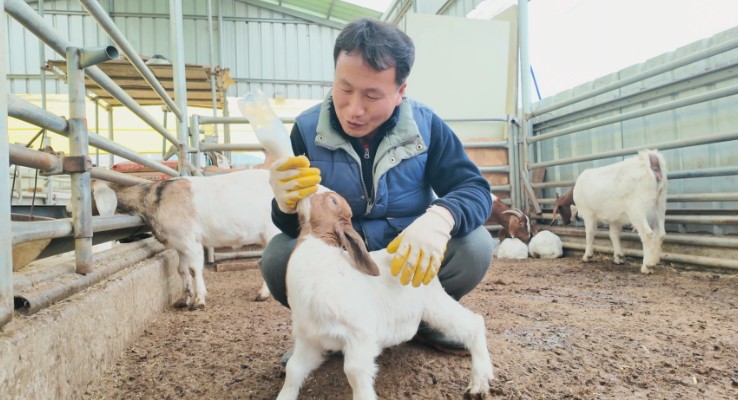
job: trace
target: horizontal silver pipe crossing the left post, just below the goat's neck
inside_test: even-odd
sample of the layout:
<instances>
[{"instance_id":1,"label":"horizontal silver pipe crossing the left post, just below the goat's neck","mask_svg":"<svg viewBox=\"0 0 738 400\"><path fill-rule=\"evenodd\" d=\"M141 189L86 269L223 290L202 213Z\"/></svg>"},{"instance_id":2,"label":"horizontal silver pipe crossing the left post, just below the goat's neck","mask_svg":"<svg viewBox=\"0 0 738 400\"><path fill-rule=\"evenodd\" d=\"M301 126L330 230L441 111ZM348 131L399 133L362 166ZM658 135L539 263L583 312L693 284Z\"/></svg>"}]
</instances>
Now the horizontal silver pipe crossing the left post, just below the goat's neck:
<instances>
[{"instance_id":1,"label":"horizontal silver pipe crossing the left post, just below the goat's neck","mask_svg":"<svg viewBox=\"0 0 738 400\"><path fill-rule=\"evenodd\" d=\"M138 215L93 216L92 231L105 232L115 229L143 226L144 221ZM68 237L74 232L71 218L59 218L50 221L32 221L10 223L12 227L12 244L41 239Z\"/></svg>"}]
</instances>

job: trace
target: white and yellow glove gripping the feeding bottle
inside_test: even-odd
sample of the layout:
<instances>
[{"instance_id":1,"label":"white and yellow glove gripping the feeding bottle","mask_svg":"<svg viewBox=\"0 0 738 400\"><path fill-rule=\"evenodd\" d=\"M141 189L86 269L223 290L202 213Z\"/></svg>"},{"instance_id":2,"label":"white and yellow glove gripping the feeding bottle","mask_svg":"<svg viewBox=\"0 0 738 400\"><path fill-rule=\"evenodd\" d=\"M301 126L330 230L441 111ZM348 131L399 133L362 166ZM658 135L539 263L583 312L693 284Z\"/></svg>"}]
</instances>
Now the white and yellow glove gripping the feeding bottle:
<instances>
[{"instance_id":1,"label":"white and yellow glove gripping the feeding bottle","mask_svg":"<svg viewBox=\"0 0 738 400\"><path fill-rule=\"evenodd\" d=\"M297 202L318 191L320 170L310 168L305 156L287 157L275 161L269 168L269 184L282 212L297 212Z\"/></svg>"}]
</instances>

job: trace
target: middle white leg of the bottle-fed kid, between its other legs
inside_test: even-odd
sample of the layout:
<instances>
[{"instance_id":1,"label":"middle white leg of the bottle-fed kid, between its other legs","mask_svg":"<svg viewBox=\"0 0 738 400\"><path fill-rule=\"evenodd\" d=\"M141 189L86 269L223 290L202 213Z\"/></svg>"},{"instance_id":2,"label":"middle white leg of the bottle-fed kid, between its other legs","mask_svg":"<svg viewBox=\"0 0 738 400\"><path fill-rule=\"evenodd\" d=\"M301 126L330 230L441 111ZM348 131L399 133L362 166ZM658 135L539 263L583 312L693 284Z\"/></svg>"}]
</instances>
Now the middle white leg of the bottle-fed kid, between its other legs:
<instances>
[{"instance_id":1,"label":"middle white leg of the bottle-fed kid, between its other legs","mask_svg":"<svg viewBox=\"0 0 738 400\"><path fill-rule=\"evenodd\" d=\"M354 400L375 400L374 377L377 364L374 360L382 348L371 340L347 343L343 349L343 372L351 385Z\"/></svg>"}]
</instances>

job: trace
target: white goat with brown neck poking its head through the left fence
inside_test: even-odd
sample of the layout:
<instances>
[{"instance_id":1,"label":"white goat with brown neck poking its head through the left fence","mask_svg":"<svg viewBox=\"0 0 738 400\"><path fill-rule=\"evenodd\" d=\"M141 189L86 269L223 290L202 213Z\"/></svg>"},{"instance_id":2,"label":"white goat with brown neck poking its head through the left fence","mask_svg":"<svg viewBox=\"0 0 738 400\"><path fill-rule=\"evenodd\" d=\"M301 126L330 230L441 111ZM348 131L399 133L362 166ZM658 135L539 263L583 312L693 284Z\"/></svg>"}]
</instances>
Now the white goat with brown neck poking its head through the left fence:
<instances>
[{"instance_id":1,"label":"white goat with brown neck poking its head through the left fence","mask_svg":"<svg viewBox=\"0 0 738 400\"><path fill-rule=\"evenodd\" d=\"M279 233L271 220L274 193L269 186L267 170L239 170L127 187L110 186L117 197L112 201L117 201L118 211L141 215L156 239L177 251L183 283L183 295L175 303L177 307L197 309L205 306L203 246L265 245ZM98 188L97 193L103 192ZM111 199L96 197L96 203L101 201ZM269 295L269 289L263 284L257 300Z\"/></svg>"}]
</instances>

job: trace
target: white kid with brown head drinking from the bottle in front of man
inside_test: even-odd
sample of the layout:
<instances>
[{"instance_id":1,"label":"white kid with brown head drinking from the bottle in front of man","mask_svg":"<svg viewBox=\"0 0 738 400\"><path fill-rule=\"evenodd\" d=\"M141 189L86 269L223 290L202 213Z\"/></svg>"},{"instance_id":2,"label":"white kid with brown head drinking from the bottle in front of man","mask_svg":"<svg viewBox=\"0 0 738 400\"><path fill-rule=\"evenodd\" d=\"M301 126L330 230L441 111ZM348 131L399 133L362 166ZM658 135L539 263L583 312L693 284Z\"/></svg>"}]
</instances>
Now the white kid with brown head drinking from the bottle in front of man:
<instances>
[{"instance_id":1,"label":"white kid with brown head drinking from the bottle in front of man","mask_svg":"<svg viewBox=\"0 0 738 400\"><path fill-rule=\"evenodd\" d=\"M421 320L469 349L467 394L484 397L493 369L482 316L451 298L438 279L402 286L389 272L386 250L367 252L343 197L321 191L298 203L302 229L286 278L295 348L278 399L296 399L326 351L343 352L355 400L375 399L375 358L410 340Z\"/></svg>"}]
</instances>

